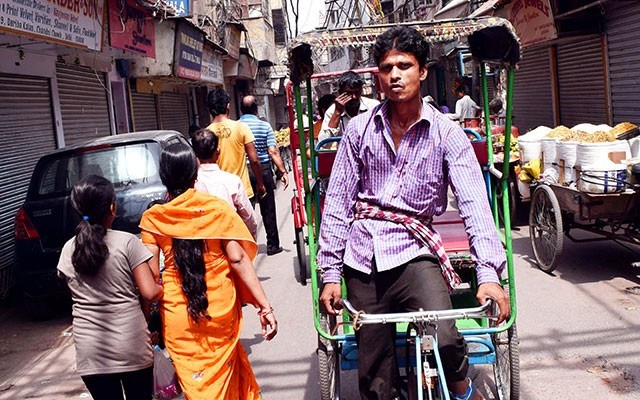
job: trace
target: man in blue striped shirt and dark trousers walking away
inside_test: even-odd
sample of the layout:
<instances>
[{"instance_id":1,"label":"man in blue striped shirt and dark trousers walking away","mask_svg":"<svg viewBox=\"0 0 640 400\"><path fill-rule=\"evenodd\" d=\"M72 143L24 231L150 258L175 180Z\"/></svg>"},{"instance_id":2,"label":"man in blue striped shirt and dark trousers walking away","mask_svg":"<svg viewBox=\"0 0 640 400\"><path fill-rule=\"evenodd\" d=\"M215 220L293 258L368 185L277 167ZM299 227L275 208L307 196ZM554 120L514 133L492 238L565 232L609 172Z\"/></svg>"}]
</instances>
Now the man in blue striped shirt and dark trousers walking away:
<instances>
[{"instance_id":1,"label":"man in blue striped shirt and dark trousers walking away","mask_svg":"<svg viewBox=\"0 0 640 400\"><path fill-rule=\"evenodd\" d=\"M273 180L272 163L277 168L280 181L286 188L289 185L287 170L280 157L280 151L276 143L273 129L268 122L258 118L258 102L254 96L245 96L240 103L242 117L240 122L246 123L255 138L255 148L260 160L262 182L264 182L265 196L258 199L260 204L260 214L262 223L267 235L267 255L274 255L282 252L280 246L280 236L278 235L278 220L276 218L276 196L275 182ZM256 177L257 178L257 177ZM254 184L257 184L256 179Z\"/></svg>"}]
</instances>

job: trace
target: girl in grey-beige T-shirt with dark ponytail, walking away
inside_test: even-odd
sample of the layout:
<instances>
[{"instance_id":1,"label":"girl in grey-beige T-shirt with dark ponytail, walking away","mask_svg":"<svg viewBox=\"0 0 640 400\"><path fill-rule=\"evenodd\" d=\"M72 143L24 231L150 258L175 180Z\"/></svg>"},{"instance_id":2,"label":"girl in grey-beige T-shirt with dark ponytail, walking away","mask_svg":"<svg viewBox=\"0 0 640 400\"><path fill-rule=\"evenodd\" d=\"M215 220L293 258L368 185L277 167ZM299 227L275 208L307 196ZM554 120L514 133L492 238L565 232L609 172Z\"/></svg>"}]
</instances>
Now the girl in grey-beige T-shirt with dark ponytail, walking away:
<instances>
[{"instance_id":1,"label":"girl in grey-beige T-shirt with dark ponytail, walking away","mask_svg":"<svg viewBox=\"0 0 640 400\"><path fill-rule=\"evenodd\" d=\"M139 300L162 296L151 253L135 235L111 229L116 194L109 180L87 176L71 202L82 220L62 248L58 275L73 300L76 371L94 400L151 400L153 350Z\"/></svg>"}]
</instances>

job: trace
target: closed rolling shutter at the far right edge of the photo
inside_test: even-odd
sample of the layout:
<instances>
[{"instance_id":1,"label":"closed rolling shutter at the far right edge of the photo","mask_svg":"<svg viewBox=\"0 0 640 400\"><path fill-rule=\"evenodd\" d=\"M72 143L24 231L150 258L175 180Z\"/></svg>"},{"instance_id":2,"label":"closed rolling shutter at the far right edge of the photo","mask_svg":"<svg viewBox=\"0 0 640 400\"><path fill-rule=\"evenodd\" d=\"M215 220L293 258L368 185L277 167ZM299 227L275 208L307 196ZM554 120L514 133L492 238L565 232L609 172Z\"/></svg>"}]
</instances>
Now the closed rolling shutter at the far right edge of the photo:
<instances>
[{"instance_id":1,"label":"closed rolling shutter at the far right edge of the photo","mask_svg":"<svg viewBox=\"0 0 640 400\"><path fill-rule=\"evenodd\" d=\"M607 45L613 123L640 124L640 3L613 2L607 9Z\"/></svg>"}]
</instances>

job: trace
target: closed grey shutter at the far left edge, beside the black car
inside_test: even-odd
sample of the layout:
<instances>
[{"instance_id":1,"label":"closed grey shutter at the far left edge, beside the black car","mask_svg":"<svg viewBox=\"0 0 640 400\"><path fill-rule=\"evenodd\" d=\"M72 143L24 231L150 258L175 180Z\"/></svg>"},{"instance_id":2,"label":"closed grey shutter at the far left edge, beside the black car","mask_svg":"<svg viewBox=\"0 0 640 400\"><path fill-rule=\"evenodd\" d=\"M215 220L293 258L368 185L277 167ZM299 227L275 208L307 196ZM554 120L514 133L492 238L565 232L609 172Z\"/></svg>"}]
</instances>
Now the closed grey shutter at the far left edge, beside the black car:
<instances>
[{"instance_id":1,"label":"closed grey shutter at the far left edge, beside the black car","mask_svg":"<svg viewBox=\"0 0 640 400\"><path fill-rule=\"evenodd\" d=\"M0 297L13 282L13 220L40 156L56 148L47 78L0 74ZM16 151L16 149L20 149Z\"/></svg>"}]
</instances>

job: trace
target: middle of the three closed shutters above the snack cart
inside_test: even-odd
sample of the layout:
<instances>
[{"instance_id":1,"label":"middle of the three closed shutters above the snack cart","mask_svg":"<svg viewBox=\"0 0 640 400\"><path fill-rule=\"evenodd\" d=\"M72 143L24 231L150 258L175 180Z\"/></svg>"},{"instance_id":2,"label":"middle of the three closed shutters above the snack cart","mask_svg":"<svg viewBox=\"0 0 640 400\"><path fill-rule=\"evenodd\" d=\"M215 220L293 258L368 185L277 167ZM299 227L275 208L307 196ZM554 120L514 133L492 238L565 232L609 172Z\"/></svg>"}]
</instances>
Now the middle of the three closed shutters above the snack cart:
<instances>
[{"instance_id":1,"label":"middle of the three closed shutters above the snack cart","mask_svg":"<svg viewBox=\"0 0 640 400\"><path fill-rule=\"evenodd\" d=\"M600 36L558 45L560 123L569 128L607 123L607 97Z\"/></svg>"}]
</instances>

